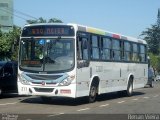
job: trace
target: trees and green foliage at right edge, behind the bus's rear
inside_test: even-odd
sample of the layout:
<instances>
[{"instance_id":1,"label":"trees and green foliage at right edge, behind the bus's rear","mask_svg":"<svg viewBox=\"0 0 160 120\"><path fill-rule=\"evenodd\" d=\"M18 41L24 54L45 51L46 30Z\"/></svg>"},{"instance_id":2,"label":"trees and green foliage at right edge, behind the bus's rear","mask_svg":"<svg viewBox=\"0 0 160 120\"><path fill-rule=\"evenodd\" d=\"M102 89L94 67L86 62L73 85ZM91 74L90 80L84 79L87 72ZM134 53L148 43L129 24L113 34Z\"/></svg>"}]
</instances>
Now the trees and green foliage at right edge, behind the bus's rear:
<instances>
[{"instance_id":1,"label":"trees and green foliage at right edge, behind the bus's rear","mask_svg":"<svg viewBox=\"0 0 160 120\"><path fill-rule=\"evenodd\" d=\"M142 32L141 36L148 43L148 52L151 65L156 72L160 72L160 9L158 10L157 22Z\"/></svg>"}]
</instances>

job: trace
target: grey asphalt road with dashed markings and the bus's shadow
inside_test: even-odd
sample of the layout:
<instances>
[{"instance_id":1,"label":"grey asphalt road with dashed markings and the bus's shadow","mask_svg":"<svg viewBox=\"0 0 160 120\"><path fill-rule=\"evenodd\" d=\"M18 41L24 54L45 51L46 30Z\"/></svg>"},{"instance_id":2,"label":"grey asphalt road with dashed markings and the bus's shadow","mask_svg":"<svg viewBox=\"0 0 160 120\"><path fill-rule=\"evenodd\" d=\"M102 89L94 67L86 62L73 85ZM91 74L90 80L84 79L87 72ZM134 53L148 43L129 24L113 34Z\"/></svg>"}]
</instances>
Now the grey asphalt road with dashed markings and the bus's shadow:
<instances>
[{"instance_id":1,"label":"grey asphalt road with dashed markings and the bus's shadow","mask_svg":"<svg viewBox=\"0 0 160 120\"><path fill-rule=\"evenodd\" d=\"M43 102L40 97L6 95L0 99L2 120L160 120L160 82L154 88L134 90L132 97L118 93L101 95L95 103L56 98ZM7 119L8 118L8 119Z\"/></svg>"}]
</instances>

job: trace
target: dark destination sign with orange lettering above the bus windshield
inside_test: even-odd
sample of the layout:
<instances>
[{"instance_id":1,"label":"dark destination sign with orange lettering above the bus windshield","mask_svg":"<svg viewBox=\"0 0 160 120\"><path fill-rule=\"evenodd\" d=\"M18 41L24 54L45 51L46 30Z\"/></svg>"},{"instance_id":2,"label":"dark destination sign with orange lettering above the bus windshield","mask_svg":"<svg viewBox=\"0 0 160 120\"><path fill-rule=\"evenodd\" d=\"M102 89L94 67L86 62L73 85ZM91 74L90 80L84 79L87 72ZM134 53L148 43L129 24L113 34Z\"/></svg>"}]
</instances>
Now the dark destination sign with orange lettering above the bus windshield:
<instances>
[{"instance_id":1,"label":"dark destination sign with orange lettering above the bus windshield","mask_svg":"<svg viewBox=\"0 0 160 120\"><path fill-rule=\"evenodd\" d=\"M28 26L22 31L23 37L30 36L73 36L74 29L72 26L62 25L43 25Z\"/></svg>"}]
</instances>

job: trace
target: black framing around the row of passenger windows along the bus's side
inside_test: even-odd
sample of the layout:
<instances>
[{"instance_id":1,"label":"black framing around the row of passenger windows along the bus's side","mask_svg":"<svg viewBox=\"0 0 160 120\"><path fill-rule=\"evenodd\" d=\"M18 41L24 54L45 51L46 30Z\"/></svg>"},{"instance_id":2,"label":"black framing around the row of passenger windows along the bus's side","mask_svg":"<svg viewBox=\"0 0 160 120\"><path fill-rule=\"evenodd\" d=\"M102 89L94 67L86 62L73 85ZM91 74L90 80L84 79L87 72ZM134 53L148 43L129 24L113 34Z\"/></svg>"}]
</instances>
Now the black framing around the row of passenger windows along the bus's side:
<instances>
[{"instance_id":1,"label":"black framing around the row of passenger windows along the bus's side","mask_svg":"<svg viewBox=\"0 0 160 120\"><path fill-rule=\"evenodd\" d=\"M122 62L122 63L145 63L147 64L147 45L143 44L143 43L138 43L138 42L134 42L134 41L130 41L127 39L118 39L118 38L113 38L110 36L105 36L105 35L99 35L99 34L94 34L94 33L89 33L89 32L81 32L78 31L77 33L84 33L86 34L86 36L88 37L88 55L89 55L89 60L90 61L100 61L100 62ZM96 36L97 37L97 44L98 46L93 46L92 47L92 36ZM103 45L103 39L109 39L111 41L111 47L107 48L104 47ZM113 41L119 41L119 49L114 49L113 47ZM125 49L125 42L130 44L130 50L126 50ZM134 45L137 46L137 50L134 51ZM140 61L140 45L144 45L145 46L145 61ZM93 58L92 56L92 52L93 52L93 48L97 48L98 49L98 55L99 58ZM103 58L103 50L108 49L110 52L110 59L104 59ZM114 59L113 55L115 51L119 51L119 59ZM125 60L125 52L129 52L129 60ZM136 59L134 60L134 54L136 54Z\"/></svg>"}]
</instances>

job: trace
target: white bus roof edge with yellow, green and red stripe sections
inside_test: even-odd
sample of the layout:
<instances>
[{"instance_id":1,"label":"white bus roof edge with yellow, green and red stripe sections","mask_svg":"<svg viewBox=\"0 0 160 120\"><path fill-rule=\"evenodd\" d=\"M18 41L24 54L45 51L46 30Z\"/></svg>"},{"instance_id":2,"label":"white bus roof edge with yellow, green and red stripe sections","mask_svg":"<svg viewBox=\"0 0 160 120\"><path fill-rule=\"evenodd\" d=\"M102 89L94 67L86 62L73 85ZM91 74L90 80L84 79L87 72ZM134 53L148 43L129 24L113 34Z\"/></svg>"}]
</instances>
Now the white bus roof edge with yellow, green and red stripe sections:
<instances>
[{"instance_id":1,"label":"white bus roof edge with yellow, green and red stripe sections","mask_svg":"<svg viewBox=\"0 0 160 120\"><path fill-rule=\"evenodd\" d=\"M142 39L138 39L138 38L134 38L134 37L130 37L130 36L125 36L125 35L109 32L109 31L105 31L105 30L102 30L102 29L89 27L89 26L84 26L84 25L75 24L75 23L69 23L69 24L64 24L64 23L36 23L36 24L25 25L25 27L37 26L37 25L71 25L71 26L74 26L78 31L89 32L89 33L93 33L93 34L99 34L99 35L104 35L104 36L107 36L107 37L112 37L112 38L115 38L115 39L123 39L123 40L132 41L132 42L147 44L147 42L145 40L142 40Z\"/></svg>"}]
</instances>

